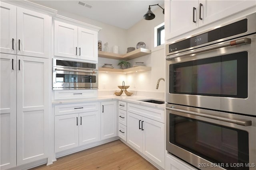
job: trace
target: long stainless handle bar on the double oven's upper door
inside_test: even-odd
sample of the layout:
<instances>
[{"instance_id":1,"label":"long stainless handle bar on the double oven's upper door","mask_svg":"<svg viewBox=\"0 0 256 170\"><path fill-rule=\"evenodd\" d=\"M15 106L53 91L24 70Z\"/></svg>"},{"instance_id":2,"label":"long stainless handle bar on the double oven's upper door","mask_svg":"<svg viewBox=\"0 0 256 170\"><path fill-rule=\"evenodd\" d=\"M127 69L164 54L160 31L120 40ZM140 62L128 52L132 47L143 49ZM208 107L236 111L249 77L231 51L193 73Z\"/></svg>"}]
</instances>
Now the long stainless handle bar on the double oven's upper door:
<instances>
[{"instance_id":1,"label":"long stainless handle bar on the double oven's upper door","mask_svg":"<svg viewBox=\"0 0 256 170\"><path fill-rule=\"evenodd\" d=\"M243 39L230 41L228 43L214 45L212 47L207 47L207 48L204 48L204 49L199 49L199 50L196 50L196 51L189 51L189 52L186 52L186 53L177 54L177 55L174 55L174 56L166 57L165 59L170 61L172 59L175 59L177 57L182 57L182 56L185 56L185 55L202 53L202 52L205 52L205 51L210 51L210 50L219 49L219 48L222 48L222 47L233 46L233 45L238 45L238 44L245 45L245 44L250 44L250 43L251 43L250 38L243 38Z\"/></svg>"}]
</instances>

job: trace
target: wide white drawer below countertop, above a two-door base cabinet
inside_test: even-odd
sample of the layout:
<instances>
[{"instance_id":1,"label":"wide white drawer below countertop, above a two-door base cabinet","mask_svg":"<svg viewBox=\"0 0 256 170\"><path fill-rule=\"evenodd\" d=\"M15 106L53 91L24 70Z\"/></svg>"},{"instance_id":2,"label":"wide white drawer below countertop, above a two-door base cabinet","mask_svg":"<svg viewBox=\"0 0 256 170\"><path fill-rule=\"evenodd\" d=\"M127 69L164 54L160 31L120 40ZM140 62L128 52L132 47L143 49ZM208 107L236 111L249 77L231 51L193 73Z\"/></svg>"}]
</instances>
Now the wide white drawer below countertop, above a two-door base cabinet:
<instances>
[{"instance_id":1,"label":"wide white drawer below countertop, above a two-door base cabinet","mask_svg":"<svg viewBox=\"0 0 256 170\"><path fill-rule=\"evenodd\" d=\"M98 111L99 103L85 103L85 104L65 104L54 106L55 115L67 115L73 113L85 113L89 111Z\"/></svg>"}]
</instances>

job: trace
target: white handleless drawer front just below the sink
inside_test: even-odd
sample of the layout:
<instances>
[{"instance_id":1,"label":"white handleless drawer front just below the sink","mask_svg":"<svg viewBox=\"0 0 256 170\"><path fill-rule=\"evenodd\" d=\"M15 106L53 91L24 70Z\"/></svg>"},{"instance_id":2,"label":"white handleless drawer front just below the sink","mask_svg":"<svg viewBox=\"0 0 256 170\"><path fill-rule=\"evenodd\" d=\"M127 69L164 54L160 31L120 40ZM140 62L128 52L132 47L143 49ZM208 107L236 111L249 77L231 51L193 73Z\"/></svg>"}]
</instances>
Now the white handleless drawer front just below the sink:
<instances>
[{"instance_id":1,"label":"white handleless drawer front just below the sink","mask_svg":"<svg viewBox=\"0 0 256 170\"><path fill-rule=\"evenodd\" d=\"M127 109L128 112L135 113L137 115L141 115L149 119L164 123L164 110L162 109L155 109L153 107L141 106L130 103L128 103Z\"/></svg>"}]
</instances>

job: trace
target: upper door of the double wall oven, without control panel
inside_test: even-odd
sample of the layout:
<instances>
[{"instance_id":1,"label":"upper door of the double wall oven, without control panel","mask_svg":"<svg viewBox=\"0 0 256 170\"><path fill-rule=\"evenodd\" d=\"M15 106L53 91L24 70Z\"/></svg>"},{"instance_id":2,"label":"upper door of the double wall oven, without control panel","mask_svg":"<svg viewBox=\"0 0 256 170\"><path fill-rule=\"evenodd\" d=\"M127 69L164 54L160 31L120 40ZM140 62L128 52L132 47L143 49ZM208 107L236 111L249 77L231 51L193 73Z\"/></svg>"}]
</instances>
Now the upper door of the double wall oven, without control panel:
<instances>
[{"instance_id":1,"label":"upper door of the double wall oven, without control panel","mask_svg":"<svg viewBox=\"0 0 256 170\"><path fill-rule=\"evenodd\" d=\"M166 61L166 101L256 115L256 34L232 42L241 39L251 42L222 42Z\"/></svg>"}]
</instances>

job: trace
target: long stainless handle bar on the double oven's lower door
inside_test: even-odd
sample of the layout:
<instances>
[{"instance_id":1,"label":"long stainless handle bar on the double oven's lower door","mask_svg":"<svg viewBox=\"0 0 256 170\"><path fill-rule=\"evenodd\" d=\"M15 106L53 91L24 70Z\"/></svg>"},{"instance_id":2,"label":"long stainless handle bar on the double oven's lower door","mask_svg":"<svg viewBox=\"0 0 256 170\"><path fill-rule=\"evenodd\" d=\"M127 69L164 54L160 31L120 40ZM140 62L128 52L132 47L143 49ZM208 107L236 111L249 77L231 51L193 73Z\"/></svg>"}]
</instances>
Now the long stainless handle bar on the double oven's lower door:
<instances>
[{"instance_id":1,"label":"long stainless handle bar on the double oven's lower door","mask_svg":"<svg viewBox=\"0 0 256 170\"><path fill-rule=\"evenodd\" d=\"M229 122L229 123L234 123L234 124L242 125L242 126L251 126L252 125L252 121L249 121L249 120L228 119L226 117L206 115L206 114L203 114L203 113L196 113L194 111L175 109L173 107L166 107L166 109L167 110L172 110L172 111L178 111L178 112L181 112L181 113L186 113L186 114L189 114L189 115L196 115L196 116L206 117L206 118L210 118L210 119L215 119L215 120L225 121L225 122ZM175 114L175 113L173 113L173 114Z\"/></svg>"}]
</instances>

